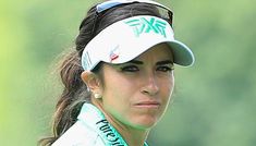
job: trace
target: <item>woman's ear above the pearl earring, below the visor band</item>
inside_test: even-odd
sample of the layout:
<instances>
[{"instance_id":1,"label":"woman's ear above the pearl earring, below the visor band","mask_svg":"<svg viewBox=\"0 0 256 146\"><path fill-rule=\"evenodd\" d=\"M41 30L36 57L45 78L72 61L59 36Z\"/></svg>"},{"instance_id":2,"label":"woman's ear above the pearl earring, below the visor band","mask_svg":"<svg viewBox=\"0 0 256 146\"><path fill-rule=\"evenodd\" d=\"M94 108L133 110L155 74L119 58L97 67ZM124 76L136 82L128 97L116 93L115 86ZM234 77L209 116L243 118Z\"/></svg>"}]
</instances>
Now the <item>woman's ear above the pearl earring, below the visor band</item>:
<instances>
[{"instance_id":1,"label":"woman's ear above the pearl earring, below the visor band","mask_svg":"<svg viewBox=\"0 0 256 146\"><path fill-rule=\"evenodd\" d=\"M93 93L101 93L101 82L95 73L84 71L81 74L81 78Z\"/></svg>"}]
</instances>

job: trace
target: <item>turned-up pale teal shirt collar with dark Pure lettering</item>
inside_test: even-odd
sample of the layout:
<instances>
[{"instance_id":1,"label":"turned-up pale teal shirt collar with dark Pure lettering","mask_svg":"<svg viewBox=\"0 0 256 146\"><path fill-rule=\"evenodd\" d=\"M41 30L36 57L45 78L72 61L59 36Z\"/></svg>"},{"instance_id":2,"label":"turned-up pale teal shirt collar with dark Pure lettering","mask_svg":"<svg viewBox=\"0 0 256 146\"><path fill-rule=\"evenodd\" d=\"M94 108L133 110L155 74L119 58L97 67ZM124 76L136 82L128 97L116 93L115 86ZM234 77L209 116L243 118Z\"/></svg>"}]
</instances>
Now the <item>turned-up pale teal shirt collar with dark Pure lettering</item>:
<instances>
[{"instance_id":1,"label":"turned-up pale teal shirt collar with dark Pure lettering","mask_svg":"<svg viewBox=\"0 0 256 146\"><path fill-rule=\"evenodd\" d=\"M106 146L129 146L119 132L106 120L103 113L92 104L84 104L78 121L96 131L106 143ZM144 143L144 146L148 146Z\"/></svg>"}]
</instances>

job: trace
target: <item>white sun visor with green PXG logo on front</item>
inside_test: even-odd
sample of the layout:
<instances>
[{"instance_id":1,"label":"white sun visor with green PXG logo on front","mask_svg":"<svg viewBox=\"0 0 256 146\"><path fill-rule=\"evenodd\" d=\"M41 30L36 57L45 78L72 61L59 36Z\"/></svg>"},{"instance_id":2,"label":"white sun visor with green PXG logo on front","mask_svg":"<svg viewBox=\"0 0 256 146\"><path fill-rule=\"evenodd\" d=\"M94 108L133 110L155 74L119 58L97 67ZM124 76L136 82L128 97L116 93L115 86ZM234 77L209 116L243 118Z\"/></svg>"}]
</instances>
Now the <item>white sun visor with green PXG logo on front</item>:
<instances>
[{"instance_id":1,"label":"white sun visor with green PXG logo on front","mask_svg":"<svg viewBox=\"0 0 256 146\"><path fill-rule=\"evenodd\" d=\"M99 62L125 63L151 47L167 42L175 64L190 66L194 63L191 49L174 39L170 24L157 16L138 15L111 24L95 36L82 54L82 66L92 71Z\"/></svg>"}]
</instances>

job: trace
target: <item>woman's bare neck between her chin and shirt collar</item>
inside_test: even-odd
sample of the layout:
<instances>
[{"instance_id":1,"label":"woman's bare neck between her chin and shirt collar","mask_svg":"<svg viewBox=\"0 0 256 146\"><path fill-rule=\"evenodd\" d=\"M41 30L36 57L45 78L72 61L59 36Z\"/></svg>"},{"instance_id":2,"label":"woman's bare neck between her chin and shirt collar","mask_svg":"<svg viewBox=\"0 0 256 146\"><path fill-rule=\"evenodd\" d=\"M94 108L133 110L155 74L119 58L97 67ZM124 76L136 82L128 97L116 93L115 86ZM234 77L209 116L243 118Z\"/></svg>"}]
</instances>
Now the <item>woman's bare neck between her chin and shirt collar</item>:
<instances>
[{"instance_id":1,"label":"woman's bare neck between her chin and shirt collar","mask_svg":"<svg viewBox=\"0 0 256 146\"><path fill-rule=\"evenodd\" d=\"M92 100L92 102L97 108L99 108L99 110L105 114L108 122L119 132L119 134L122 135L123 139L127 143L129 146L144 146L149 130L129 126L107 113L103 110L101 104L99 104L98 101Z\"/></svg>"}]
</instances>

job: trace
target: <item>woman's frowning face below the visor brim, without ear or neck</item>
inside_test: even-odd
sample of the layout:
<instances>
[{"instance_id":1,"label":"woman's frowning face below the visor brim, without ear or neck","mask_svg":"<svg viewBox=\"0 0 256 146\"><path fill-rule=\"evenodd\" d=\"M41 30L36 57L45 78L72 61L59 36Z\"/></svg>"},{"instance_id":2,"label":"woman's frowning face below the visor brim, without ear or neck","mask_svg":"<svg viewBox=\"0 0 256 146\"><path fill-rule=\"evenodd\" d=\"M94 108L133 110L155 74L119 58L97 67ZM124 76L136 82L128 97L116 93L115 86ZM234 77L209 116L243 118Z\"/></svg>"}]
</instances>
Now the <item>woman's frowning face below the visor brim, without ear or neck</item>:
<instances>
[{"instance_id":1,"label":"woman's frowning face below the visor brim, without ear or neck","mask_svg":"<svg viewBox=\"0 0 256 146\"><path fill-rule=\"evenodd\" d=\"M164 113L174 86L171 50L161 44L123 64L102 65L102 109L136 129L151 127Z\"/></svg>"}]
</instances>

